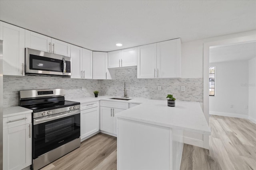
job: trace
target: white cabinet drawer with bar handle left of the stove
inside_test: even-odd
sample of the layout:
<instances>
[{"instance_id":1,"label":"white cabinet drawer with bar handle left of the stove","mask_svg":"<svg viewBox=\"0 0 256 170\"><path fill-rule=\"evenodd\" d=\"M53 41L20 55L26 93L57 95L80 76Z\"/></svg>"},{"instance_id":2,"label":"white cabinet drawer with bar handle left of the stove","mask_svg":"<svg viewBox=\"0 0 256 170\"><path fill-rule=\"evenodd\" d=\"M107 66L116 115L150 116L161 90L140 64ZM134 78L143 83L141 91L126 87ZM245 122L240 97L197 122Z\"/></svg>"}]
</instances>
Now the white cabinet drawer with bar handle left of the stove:
<instances>
[{"instance_id":1,"label":"white cabinet drawer with bar handle left of the stove","mask_svg":"<svg viewBox=\"0 0 256 170\"><path fill-rule=\"evenodd\" d=\"M3 118L3 129L8 129L20 125L26 125L31 123L31 113L4 117Z\"/></svg>"}]
</instances>

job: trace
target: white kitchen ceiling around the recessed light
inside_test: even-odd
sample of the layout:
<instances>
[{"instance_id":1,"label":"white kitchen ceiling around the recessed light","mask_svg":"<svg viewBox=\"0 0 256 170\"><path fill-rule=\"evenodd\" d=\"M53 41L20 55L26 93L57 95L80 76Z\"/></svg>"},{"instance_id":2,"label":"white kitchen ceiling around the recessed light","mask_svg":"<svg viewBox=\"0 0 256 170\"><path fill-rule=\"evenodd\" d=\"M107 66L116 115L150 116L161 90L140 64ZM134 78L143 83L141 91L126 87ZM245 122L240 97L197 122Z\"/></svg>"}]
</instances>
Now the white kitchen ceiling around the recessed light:
<instances>
[{"instance_id":1,"label":"white kitchen ceiling around the recessed light","mask_svg":"<svg viewBox=\"0 0 256 170\"><path fill-rule=\"evenodd\" d=\"M113 51L255 30L256 1L0 0L0 20L90 50Z\"/></svg>"}]
</instances>

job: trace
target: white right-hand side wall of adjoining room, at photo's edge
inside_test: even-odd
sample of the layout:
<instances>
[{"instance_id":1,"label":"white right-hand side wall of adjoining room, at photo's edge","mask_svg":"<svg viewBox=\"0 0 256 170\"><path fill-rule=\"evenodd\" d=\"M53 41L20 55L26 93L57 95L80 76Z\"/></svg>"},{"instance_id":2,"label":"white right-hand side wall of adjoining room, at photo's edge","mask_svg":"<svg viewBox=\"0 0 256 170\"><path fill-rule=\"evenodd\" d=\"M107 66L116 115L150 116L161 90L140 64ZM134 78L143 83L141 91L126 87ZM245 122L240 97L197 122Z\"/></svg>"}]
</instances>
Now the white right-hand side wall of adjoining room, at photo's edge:
<instances>
[{"instance_id":1,"label":"white right-hand side wall of adjoining room, at photo's edge","mask_svg":"<svg viewBox=\"0 0 256 170\"><path fill-rule=\"evenodd\" d=\"M249 64L249 119L256 123L256 58L248 61Z\"/></svg>"}]
</instances>

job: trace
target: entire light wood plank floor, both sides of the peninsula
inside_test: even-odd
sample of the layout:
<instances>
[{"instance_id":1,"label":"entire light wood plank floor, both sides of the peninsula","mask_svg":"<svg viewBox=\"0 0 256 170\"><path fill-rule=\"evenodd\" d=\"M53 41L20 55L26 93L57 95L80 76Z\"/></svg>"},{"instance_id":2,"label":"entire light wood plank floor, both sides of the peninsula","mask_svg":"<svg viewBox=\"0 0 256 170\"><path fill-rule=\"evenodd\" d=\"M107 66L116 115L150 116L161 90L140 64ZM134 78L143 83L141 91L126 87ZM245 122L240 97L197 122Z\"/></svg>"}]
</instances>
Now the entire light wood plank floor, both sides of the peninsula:
<instances>
[{"instance_id":1,"label":"entire light wood plank floor, both sides of the peninsula","mask_svg":"<svg viewBox=\"0 0 256 170\"><path fill-rule=\"evenodd\" d=\"M256 170L256 125L211 115L210 150L184 144L180 170ZM42 170L116 170L116 137L99 133Z\"/></svg>"}]
</instances>

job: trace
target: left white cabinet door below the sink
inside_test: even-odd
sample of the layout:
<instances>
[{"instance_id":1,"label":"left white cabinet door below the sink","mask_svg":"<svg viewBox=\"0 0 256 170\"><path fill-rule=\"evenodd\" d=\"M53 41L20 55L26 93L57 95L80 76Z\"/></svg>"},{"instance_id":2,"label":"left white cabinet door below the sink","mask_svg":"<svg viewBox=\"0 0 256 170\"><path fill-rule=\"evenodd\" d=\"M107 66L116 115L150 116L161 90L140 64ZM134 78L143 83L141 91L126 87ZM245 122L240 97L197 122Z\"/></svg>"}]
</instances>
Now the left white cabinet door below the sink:
<instances>
[{"instance_id":1,"label":"left white cabinet door below the sink","mask_svg":"<svg viewBox=\"0 0 256 170\"><path fill-rule=\"evenodd\" d=\"M112 108L100 107L100 130L113 133L113 120Z\"/></svg>"}]
</instances>

